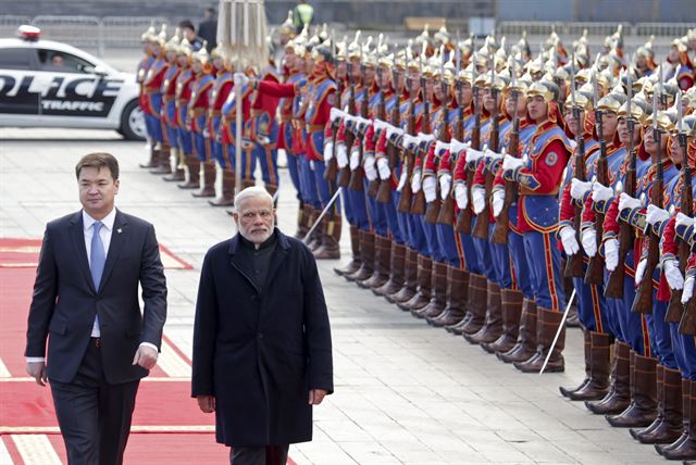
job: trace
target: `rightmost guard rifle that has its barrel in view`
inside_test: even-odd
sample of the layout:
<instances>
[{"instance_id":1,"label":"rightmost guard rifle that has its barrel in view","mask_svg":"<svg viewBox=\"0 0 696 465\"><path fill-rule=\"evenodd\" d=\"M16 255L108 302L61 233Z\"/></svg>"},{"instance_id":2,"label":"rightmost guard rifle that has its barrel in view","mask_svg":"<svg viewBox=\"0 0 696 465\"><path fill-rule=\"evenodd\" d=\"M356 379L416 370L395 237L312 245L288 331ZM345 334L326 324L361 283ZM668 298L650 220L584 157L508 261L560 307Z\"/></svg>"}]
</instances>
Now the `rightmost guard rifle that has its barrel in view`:
<instances>
[{"instance_id":1,"label":"rightmost guard rifle that has its barrel in view","mask_svg":"<svg viewBox=\"0 0 696 465\"><path fill-rule=\"evenodd\" d=\"M676 102L676 130L679 146L684 153L684 160L682 161L682 188L680 192L680 210L686 216L693 215L694 194L692 191L692 168L688 166L687 143L686 134L682 131L682 92L679 92L679 100ZM686 262L688 261L688 244L685 241L679 242L679 268L684 273L686 269ZM682 305L682 290L671 289L670 303L667 307L667 315L664 321L667 323L680 323L683 319L682 313L684 306Z\"/></svg>"}]
</instances>

